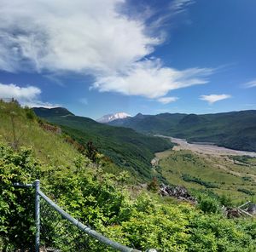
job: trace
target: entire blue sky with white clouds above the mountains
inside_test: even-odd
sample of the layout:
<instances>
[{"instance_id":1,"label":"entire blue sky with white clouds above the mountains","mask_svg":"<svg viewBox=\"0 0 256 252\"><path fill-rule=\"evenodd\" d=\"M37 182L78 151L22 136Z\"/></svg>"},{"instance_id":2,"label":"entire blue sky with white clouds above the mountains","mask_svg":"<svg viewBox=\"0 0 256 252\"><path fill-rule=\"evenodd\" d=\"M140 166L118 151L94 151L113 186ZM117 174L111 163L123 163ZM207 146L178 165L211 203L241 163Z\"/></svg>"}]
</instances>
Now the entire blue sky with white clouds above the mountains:
<instances>
[{"instance_id":1,"label":"entire blue sky with white clouds above the mountains","mask_svg":"<svg viewBox=\"0 0 256 252\"><path fill-rule=\"evenodd\" d=\"M0 98L94 119L256 109L255 0L0 6Z\"/></svg>"}]
</instances>

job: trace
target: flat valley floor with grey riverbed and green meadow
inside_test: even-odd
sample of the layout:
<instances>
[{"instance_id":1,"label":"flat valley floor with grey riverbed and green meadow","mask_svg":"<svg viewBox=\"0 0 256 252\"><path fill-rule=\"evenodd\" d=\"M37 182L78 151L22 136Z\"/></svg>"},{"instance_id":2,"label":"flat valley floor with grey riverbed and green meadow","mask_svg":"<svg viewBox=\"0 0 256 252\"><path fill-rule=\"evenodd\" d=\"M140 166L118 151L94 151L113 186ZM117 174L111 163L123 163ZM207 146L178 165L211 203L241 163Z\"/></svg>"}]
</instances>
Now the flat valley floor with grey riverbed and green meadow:
<instances>
[{"instance_id":1,"label":"flat valley floor with grey riverbed and green meadow","mask_svg":"<svg viewBox=\"0 0 256 252\"><path fill-rule=\"evenodd\" d=\"M160 136L160 135L159 135ZM154 160L172 185L182 185L196 192L228 195L233 203L252 200L256 194L256 153L224 147L189 144L186 140L163 136L176 146L158 152Z\"/></svg>"}]
</instances>

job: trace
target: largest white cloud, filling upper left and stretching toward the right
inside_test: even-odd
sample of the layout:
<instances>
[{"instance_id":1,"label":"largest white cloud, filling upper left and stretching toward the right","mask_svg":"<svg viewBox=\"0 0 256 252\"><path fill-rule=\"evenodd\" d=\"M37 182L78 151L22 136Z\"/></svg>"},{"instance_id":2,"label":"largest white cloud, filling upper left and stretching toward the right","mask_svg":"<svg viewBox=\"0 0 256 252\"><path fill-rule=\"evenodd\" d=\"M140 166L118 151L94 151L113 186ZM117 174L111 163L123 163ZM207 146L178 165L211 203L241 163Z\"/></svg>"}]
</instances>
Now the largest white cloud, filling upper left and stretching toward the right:
<instances>
[{"instance_id":1,"label":"largest white cloud, filling upper left and stretching toward the right","mask_svg":"<svg viewBox=\"0 0 256 252\"><path fill-rule=\"evenodd\" d=\"M189 0L176 0L172 13ZM146 59L163 43L143 18L123 14L125 0L0 0L0 69L78 72L93 88L160 98L207 83L212 69L177 70ZM160 32L159 32L160 33Z\"/></svg>"}]
</instances>

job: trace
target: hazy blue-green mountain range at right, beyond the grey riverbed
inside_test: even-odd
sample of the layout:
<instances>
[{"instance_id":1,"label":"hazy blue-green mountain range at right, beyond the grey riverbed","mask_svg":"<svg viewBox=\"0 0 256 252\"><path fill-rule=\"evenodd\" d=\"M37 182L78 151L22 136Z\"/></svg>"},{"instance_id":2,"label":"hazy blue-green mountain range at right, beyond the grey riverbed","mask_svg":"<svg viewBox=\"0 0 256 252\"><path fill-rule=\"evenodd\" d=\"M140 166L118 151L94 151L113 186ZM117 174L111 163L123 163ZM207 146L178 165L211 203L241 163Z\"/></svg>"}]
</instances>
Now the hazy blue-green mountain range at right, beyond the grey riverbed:
<instances>
[{"instance_id":1,"label":"hazy blue-green mountain range at right, beyond the grey riverbed","mask_svg":"<svg viewBox=\"0 0 256 252\"><path fill-rule=\"evenodd\" d=\"M216 114L142 115L114 120L110 125L122 126L146 134L169 135L188 141L212 142L236 150L256 152L256 111Z\"/></svg>"}]
</instances>

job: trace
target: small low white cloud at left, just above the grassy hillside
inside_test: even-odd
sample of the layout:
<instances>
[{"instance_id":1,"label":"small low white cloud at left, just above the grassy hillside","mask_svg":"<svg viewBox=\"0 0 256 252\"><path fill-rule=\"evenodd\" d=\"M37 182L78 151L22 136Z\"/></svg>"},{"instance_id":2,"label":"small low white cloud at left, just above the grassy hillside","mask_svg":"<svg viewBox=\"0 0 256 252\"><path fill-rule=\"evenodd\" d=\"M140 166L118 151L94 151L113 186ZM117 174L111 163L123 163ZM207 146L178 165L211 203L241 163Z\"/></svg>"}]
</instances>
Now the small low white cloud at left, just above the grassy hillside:
<instances>
[{"instance_id":1,"label":"small low white cloud at left, just above the grassy hillside","mask_svg":"<svg viewBox=\"0 0 256 252\"><path fill-rule=\"evenodd\" d=\"M13 83L0 83L0 99L15 98L15 100L18 100L22 106L57 106L39 100L39 94L41 94L41 89L34 86L19 87Z\"/></svg>"}]
</instances>

